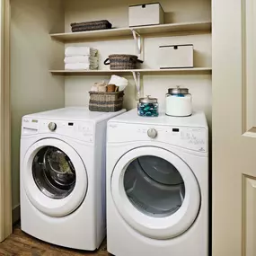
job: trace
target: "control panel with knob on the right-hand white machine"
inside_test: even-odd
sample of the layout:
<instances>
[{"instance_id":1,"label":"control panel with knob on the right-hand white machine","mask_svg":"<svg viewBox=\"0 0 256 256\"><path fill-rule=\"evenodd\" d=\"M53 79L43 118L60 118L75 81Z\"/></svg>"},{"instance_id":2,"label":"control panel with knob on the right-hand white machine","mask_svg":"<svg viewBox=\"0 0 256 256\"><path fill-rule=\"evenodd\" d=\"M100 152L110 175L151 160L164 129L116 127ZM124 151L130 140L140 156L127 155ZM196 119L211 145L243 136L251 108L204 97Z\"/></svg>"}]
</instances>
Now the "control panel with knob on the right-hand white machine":
<instances>
[{"instance_id":1,"label":"control panel with knob on the right-hand white machine","mask_svg":"<svg viewBox=\"0 0 256 256\"><path fill-rule=\"evenodd\" d=\"M198 152L208 151L207 128L150 126L110 122L109 143L155 141Z\"/></svg>"}]
</instances>

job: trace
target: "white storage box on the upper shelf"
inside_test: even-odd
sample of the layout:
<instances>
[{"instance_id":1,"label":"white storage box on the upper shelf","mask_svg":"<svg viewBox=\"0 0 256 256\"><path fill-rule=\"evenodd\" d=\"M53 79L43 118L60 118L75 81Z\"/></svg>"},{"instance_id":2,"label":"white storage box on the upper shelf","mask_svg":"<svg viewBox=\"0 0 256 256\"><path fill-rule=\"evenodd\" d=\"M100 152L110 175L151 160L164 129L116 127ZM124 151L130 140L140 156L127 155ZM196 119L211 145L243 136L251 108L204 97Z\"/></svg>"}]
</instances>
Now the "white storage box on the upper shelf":
<instances>
[{"instance_id":1,"label":"white storage box on the upper shelf","mask_svg":"<svg viewBox=\"0 0 256 256\"><path fill-rule=\"evenodd\" d=\"M129 27L163 24L161 4L140 4L128 8Z\"/></svg>"}]
</instances>

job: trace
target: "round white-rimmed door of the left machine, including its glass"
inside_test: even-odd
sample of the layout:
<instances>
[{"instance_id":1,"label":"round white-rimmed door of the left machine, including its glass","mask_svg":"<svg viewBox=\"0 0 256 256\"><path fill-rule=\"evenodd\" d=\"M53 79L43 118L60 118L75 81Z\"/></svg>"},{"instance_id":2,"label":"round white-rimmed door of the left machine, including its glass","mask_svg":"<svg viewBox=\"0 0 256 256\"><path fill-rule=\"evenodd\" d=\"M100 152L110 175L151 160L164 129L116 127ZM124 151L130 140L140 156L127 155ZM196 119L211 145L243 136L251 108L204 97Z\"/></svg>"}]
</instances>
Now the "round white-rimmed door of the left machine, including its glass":
<instances>
[{"instance_id":1,"label":"round white-rimmed door of the left machine, including its glass","mask_svg":"<svg viewBox=\"0 0 256 256\"><path fill-rule=\"evenodd\" d=\"M84 200L87 174L73 147L47 138L33 144L22 163L23 187L31 204L48 216L66 216Z\"/></svg>"}]
</instances>

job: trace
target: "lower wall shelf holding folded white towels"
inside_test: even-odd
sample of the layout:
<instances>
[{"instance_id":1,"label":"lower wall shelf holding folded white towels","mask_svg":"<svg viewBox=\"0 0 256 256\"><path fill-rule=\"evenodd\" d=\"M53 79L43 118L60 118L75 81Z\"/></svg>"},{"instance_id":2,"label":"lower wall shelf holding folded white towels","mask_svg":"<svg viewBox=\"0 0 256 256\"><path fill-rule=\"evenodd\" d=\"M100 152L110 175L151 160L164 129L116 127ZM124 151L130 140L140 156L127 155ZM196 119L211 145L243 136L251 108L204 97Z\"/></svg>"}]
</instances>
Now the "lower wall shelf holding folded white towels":
<instances>
[{"instance_id":1,"label":"lower wall shelf holding folded white towels","mask_svg":"<svg viewBox=\"0 0 256 256\"><path fill-rule=\"evenodd\" d=\"M49 70L52 75L211 75L211 67L172 68L172 69L130 69L130 70Z\"/></svg>"}]
</instances>

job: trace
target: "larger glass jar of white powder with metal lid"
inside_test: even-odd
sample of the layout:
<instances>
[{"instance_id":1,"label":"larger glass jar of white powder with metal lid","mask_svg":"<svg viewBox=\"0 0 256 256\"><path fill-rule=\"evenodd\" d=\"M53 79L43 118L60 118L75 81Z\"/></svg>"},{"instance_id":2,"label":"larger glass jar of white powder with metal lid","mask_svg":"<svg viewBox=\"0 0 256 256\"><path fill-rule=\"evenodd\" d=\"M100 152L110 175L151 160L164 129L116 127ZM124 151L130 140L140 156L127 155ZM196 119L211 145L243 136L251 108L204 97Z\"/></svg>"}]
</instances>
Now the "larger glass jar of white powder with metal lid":
<instances>
[{"instance_id":1,"label":"larger glass jar of white powder with metal lid","mask_svg":"<svg viewBox=\"0 0 256 256\"><path fill-rule=\"evenodd\" d=\"M170 88L165 99L165 113L172 117L188 117L192 114L192 96L189 89Z\"/></svg>"}]
</instances>

